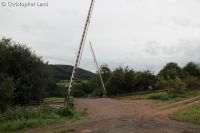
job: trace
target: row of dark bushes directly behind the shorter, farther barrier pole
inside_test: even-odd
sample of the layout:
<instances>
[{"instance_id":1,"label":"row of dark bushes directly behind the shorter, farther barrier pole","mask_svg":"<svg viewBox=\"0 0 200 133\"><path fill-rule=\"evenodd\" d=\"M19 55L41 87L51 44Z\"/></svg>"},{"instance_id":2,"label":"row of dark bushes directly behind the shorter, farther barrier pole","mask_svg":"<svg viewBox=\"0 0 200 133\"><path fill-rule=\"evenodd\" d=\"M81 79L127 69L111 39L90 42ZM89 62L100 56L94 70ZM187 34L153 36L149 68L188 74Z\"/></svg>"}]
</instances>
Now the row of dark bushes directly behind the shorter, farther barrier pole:
<instances>
[{"instance_id":1,"label":"row of dark bushes directly behind the shorter, farther barrier pole","mask_svg":"<svg viewBox=\"0 0 200 133\"><path fill-rule=\"evenodd\" d=\"M158 80L156 76L149 71L135 72L128 67L119 67L111 71L107 65L101 66L100 70L109 96L157 89L156 84ZM81 88L81 86L82 85L80 85L79 88ZM90 90L89 92L92 92L93 96L103 95L103 87L98 74L86 83L85 88L86 87Z\"/></svg>"}]
</instances>

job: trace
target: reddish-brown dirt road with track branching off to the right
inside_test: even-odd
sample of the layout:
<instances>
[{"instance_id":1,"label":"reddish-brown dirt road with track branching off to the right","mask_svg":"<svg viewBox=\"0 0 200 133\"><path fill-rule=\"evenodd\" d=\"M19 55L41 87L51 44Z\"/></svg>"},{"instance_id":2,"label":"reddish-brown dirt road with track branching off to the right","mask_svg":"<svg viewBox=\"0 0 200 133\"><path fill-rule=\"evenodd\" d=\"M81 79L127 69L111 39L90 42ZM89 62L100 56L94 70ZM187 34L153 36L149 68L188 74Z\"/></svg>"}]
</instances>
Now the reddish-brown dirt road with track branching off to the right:
<instances>
[{"instance_id":1,"label":"reddish-brown dirt road with track branching off to the right","mask_svg":"<svg viewBox=\"0 0 200 133\"><path fill-rule=\"evenodd\" d=\"M116 100L110 98L79 99L79 111L88 117L78 122L66 122L50 128L28 131L52 133L200 133L199 125L170 120L168 115L199 102L192 98L179 103L154 107L152 100Z\"/></svg>"}]
</instances>

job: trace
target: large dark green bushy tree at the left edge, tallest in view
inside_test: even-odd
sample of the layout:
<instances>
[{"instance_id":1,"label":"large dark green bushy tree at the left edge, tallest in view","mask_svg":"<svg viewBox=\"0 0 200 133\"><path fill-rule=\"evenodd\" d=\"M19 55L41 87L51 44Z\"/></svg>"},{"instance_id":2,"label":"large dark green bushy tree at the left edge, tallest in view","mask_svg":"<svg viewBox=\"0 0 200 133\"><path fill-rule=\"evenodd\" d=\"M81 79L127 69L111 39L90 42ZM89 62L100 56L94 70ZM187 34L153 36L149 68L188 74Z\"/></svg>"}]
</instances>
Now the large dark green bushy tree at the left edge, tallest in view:
<instances>
[{"instance_id":1,"label":"large dark green bushy tree at the left edge, tallest in view","mask_svg":"<svg viewBox=\"0 0 200 133\"><path fill-rule=\"evenodd\" d=\"M6 75L6 79L9 79L10 88L13 88L11 81L14 84L14 93L10 91L9 95L13 96L15 105L28 105L42 101L51 77L47 62L27 46L3 38L0 40L0 65L0 74ZM0 81L0 84L4 84L5 81ZM4 91L1 89L0 93Z\"/></svg>"}]
</instances>

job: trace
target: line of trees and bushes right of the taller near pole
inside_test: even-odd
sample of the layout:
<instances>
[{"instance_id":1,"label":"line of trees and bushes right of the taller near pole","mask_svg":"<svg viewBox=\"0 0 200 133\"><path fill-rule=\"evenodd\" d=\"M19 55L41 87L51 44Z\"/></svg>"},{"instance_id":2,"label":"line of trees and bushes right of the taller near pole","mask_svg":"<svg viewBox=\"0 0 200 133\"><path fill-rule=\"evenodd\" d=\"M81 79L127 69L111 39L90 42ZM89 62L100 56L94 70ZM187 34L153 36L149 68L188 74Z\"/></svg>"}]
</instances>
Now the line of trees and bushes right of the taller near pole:
<instances>
[{"instance_id":1,"label":"line of trees and bushes right of the taller near pole","mask_svg":"<svg viewBox=\"0 0 200 133\"><path fill-rule=\"evenodd\" d=\"M101 73L108 96L153 90L182 93L184 90L200 89L200 65L194 62L187 63L183 68L175 62L167 63L156 75L151 71L135 71L129 67L111 70L108 65L101 66ZM99 75L75 85L74 95L102 96Z\"/></svg>"}]
</instances>

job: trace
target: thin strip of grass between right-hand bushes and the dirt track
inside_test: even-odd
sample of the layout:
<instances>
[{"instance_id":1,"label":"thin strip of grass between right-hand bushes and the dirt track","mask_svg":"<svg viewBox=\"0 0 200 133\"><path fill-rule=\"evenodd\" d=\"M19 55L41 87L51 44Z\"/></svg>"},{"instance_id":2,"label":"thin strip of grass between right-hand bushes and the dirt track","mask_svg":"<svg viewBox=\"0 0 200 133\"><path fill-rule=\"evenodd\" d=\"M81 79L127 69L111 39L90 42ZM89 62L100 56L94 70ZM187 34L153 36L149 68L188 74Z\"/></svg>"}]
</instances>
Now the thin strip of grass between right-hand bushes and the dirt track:
<instances>
[{"instance_id":1,"label":"thin strip of grass between right-hand bushes and the dirt track","mask_svg":"<svg viewBox=\"0 0 200 133\"><path fill-rule=\"evenodd\" d=\"M181 94L168 94L167 92L152 92L149 94L126 96L123 99L136 100L136 99L155 99L161 101L181 101L187 98L200 95L200 91L185 91Z\"/></svg>"}]
</instances>

